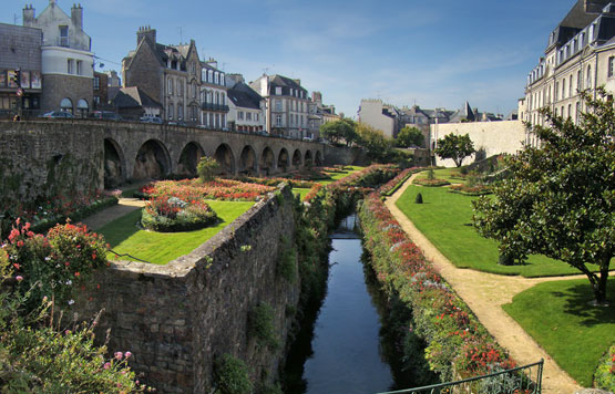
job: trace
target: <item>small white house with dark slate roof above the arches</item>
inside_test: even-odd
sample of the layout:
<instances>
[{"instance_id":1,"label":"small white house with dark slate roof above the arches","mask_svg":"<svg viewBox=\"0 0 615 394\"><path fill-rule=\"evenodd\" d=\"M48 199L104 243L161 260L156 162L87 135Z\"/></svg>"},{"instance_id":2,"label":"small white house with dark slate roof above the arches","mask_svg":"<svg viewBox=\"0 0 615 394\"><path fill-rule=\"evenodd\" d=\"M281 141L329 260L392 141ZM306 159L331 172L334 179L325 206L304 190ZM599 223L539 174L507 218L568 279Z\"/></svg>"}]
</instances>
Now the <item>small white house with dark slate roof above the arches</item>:
<instances>
[{"instance_id":1,"label":"small white house with dark slate roof above the arches","mask_svg":"<svg viewBox=\"0 0 615 394\"><path fill-rule=\"evenodd\" d=\"M228 124L237 132L264 132L266 102L244 81L240 74L226 75L228 89Z\"/></svg>"}]
</instances>

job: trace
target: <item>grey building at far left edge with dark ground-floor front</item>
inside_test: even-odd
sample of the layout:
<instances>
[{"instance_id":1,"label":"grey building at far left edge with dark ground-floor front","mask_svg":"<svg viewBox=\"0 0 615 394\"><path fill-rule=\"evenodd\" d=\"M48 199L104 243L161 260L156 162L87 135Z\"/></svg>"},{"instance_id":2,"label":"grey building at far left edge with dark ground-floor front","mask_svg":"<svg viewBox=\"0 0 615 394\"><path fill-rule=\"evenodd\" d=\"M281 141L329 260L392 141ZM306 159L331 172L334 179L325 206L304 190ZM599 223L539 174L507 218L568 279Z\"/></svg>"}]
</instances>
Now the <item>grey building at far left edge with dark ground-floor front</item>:
<instances>
[{"instance_id":1,"label":"grey building at far left edge with dark ground-floor front","mask_svg":"<svg viewBox=\"0 0 615 394\"><path fill-rule=\"evenodd\" d=\"M0 117L38 115L41 105L42 31L0 23ZM21 86L16 70L21 72ZM21 95L18 90L21 89Z\"/></svg>"}]
</instances>

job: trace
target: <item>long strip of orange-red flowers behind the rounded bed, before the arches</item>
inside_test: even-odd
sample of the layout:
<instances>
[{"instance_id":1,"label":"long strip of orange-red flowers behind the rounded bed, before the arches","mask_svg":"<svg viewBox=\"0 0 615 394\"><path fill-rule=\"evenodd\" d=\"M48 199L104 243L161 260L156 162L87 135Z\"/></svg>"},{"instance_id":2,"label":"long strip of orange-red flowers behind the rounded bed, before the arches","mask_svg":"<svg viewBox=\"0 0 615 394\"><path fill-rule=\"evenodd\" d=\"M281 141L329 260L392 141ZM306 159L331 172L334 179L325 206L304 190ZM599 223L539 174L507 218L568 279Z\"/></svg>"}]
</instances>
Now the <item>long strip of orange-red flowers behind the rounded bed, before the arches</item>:
<instances>
[{"instance_id":1,"label":"long strip of orange-red flowers behind the rounded bed, before the arches","mask_svg":"<svg viewBox=\"0 0 615 394\"><path fill-rule=\"evenodd\" d=\"M198 199L254 201L266 193L275 190L273 186L249 184L233 179L216 179L203 183L199 179L160 180L141 187L137 195L151 197L177 197L184 201Z\"/></svg>"}]
</instances>

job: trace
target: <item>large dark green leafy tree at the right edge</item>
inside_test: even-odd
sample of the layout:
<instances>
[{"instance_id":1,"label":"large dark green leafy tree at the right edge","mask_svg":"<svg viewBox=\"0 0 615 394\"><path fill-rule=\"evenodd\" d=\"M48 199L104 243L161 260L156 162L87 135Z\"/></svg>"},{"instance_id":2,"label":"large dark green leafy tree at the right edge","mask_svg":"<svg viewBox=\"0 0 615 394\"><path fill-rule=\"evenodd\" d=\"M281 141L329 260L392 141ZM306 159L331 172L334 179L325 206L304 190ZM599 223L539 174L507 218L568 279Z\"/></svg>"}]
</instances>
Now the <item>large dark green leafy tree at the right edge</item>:
<instances>
[{"instance_id":1,"label":"large dark green leafy tree at the right edge","mask_svg":"<svg viewBox=\"0 0 615 394\"><path fill-rule=\"evenodd\" d=\"M578 269L603 304L615 253L615 111L602 89L598 98L581 94L588 110L578 125L542 111L549 126L531 127L541 147L509 158L511 177L495 198L474 203L472 221L504 255L542 253Z\"/></svg>"}]
</instances>

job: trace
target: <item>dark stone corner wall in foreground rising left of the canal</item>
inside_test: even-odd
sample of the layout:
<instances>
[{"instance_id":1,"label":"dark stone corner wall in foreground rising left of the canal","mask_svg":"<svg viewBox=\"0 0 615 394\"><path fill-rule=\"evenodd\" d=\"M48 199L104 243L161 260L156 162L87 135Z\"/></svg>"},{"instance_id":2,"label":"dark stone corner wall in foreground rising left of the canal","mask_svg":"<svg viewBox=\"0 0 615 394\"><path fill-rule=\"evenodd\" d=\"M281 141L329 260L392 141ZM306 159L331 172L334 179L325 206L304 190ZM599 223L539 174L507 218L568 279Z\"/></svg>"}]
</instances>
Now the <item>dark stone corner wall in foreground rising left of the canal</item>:
<instances>
[{"instance_id":1,"label":"dark stone corner wall in foreground rising left of the canal","mask_svg":"<svg viewBox=\"0 0 615 394\"><path fill-rule=\"evenodd\" d=\"M189 255L165 266L115 261L99 272L75 303L80 319L104 308L99 336L111 329L109 351L134 354L131 363L158 393L208 393L216 356L244 360L255 381L277 376L300 283L276 274L281 237L291 237L289 188L270 194ZM100 288L99 288L100 287ZM275 311L283 344L274 351L247 336L249 311Z\"/></svg>"}]
</instances>

